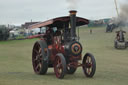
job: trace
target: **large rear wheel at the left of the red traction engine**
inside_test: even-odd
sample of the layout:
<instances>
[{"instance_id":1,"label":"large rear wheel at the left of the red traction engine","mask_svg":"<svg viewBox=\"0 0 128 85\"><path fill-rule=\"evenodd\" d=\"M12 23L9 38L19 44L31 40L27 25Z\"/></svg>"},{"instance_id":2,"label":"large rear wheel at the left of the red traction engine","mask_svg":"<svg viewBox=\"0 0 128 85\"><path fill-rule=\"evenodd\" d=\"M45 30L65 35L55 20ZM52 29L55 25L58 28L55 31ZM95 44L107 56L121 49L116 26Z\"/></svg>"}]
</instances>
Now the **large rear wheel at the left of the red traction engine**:
<instances>
[{"instance_id":1,"label":"large rear wheel at the left of the red traction engine","mask_svg":"<svg viewBox=\"0 0 128 85\"><path fill-rule=\"evenodd\" d=\"M32 53L32 64L33 69L36 74L45 74L48 69L48 64L44 61L44 58L47 56L46 50L47 44L44 41L37 41L33 47Z\"/></svg>"}]
</instances>

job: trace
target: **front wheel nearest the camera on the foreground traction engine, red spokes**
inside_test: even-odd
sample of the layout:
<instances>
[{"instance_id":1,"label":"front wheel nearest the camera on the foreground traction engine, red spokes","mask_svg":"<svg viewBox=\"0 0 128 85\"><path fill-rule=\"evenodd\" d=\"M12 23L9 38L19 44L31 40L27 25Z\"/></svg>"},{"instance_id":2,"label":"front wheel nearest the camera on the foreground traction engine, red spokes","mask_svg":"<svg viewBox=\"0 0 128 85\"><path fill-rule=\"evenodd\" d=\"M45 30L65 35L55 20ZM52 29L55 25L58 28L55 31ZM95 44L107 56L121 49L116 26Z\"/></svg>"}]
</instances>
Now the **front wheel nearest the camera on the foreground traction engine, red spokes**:
<instances>
[{"instance_id":1,"label":"front wheel nearest the camera on the foreground traction engine, red spokes","mask_svg":"<svg viewBox=\"0 0 128 85\"><path fill-rule=\"evenodd\" d=\"M63 54L61 53L58 53L56 55L56 59L54 61L54 72L57 78L64 78L64 75L66 73L66 61Z\"/></svg>"}]
</instances>

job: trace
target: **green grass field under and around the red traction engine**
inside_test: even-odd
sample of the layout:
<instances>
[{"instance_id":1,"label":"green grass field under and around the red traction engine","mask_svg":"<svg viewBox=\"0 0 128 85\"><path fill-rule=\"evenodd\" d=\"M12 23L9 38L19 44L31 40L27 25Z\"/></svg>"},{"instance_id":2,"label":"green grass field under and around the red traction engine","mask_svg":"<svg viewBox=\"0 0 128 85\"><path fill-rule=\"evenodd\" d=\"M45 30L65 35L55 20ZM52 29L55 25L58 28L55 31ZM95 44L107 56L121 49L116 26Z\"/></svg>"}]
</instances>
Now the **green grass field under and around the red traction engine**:
<instances>
[{"instance_id":1,"label":"green grass field under and around the red traction engine","mask_svg":"<svg viewBox=\"0 0 128 85\"><path fill-rule=\"evenodd\" d=\"M127 85L128 49L114 48L115 33L105 33L105 28L80 29L83 55L93 53L96 59L96 73L93 78L84 76L82 68L74 75L57 79L53 68L47 75L33 72L32 46L37 39L0 42L0 85ZM127 37L128 38L128 37Z\"/></svg>"}]
</instances>

